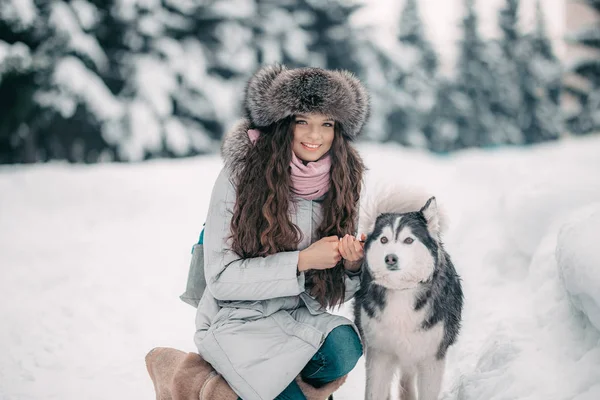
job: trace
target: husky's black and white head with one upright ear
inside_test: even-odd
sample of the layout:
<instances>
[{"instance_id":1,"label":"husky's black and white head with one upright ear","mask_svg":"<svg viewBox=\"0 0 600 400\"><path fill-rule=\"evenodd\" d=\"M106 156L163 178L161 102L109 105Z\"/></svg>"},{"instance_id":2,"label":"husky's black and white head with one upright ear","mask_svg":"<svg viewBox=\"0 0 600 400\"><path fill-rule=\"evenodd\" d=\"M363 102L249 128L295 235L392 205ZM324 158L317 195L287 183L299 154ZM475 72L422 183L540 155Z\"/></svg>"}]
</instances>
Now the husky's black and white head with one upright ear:
<instances>
[{"instance_id":1,"label":"husky's black and white head with one upright ear","mask_svg":"<svg viewBox=\"0 0 600 400\"><path fill-rule=\"evenodd\" d=\"M377 217L365 242L373 281L388 289L416 288L437 264L440 220L435 198L416 212Z\"/></svg>"}]
</instances>

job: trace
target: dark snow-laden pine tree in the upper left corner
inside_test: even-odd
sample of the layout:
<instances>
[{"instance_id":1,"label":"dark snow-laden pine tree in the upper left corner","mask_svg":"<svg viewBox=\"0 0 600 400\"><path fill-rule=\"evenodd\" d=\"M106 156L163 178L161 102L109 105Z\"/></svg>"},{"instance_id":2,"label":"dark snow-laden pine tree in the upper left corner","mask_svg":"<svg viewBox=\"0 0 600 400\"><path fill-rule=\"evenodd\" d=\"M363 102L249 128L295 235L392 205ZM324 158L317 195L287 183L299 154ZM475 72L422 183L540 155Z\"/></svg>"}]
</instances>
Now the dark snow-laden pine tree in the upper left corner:
<instances>
[{"instance_id":1,"label":"dark snow-laden pine tree in the upper left corner","mask_svg":"<svg viewBox=\"0 0 600 400\"><path fill-rule=\"evenodd\" d=\"M23 7L32 19L15 24L10 15ZM4 2L2 8L9 18L2 19L0 40L26 49L28 67L13 69L2 79L0 93L7 107L0 111L6 122L0 136L9 139L0 145L0 162L96 161L100 152L110 152L100 131L116 107L90 72L104 68L106 56L82 29L77 10L63 1Z\"/></svg>"}]
</instances>

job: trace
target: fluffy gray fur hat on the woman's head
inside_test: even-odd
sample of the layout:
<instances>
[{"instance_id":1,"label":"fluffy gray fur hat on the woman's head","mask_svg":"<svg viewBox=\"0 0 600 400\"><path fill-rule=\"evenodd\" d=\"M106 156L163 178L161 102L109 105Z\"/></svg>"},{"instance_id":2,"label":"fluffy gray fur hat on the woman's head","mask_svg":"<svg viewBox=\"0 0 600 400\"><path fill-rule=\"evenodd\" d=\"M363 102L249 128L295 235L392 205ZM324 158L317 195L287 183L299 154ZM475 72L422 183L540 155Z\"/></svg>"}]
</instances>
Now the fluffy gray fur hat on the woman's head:
<instances>
[{"instance_id":1,"label":"fluffy gray fur hat on the woman's head","mask_svg":"<svg viewBox=\"0 0 600 400\"><path fill-rule=\"evenodd\" d=\"M266 66L248 81L244 107L252 125L271 125L290 115L318 112L356 138L369 115L369 95L348 71Z\"/></svg>"}]
</instances>

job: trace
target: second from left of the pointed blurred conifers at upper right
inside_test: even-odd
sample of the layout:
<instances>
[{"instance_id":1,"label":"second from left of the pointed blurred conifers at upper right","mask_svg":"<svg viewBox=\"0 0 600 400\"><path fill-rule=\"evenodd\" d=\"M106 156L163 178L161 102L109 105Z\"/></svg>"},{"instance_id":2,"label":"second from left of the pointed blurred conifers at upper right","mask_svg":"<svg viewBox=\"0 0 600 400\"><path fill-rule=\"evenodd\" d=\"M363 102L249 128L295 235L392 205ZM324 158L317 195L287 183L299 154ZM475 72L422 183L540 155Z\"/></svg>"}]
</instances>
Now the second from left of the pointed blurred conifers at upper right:
<instances>
[{"instance_id":1,"label":"second from left of the pointed blurred conifers at upper right","mask_svg":"<svg viewBox=\"0 0 600 400\"><path fill-rule=\"evenodd\" d=\"M478 31L474 0L466 0L463 38L460 42L456 104L460 131L457 148L490 143L496 120L491 112L494 76L489 65L485 42Z\"/></svg>"}]
</instances>

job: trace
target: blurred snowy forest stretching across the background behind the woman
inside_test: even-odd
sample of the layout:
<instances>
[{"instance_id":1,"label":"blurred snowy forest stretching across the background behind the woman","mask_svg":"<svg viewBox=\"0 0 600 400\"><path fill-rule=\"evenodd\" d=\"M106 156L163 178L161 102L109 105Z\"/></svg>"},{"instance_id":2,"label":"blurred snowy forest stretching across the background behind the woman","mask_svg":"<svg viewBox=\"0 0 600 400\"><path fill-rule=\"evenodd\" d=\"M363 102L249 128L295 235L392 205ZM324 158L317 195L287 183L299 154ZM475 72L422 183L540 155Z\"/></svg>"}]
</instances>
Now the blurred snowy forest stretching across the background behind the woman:
<instances>
[{"instance_id":1,"label":"blurred snowy forest stretching across the background behind the woman","mask_svg":"<svg viewBox=\"0 0 600 400\"><path fill-rule=\"evenodd\" d=\"M498 0L490 35L488 1L439 2L459 17L432 24L431 0L0 0L0 163L215 152L273 62L356 73L372 93L364 140L446 153L598 132L600 19L551 30L564 2ZM431 39L452 24L456 38ZM561 58L564 43L591 51Z\"/></svg>"}]
</instances>

